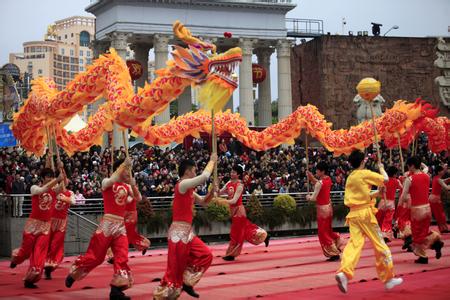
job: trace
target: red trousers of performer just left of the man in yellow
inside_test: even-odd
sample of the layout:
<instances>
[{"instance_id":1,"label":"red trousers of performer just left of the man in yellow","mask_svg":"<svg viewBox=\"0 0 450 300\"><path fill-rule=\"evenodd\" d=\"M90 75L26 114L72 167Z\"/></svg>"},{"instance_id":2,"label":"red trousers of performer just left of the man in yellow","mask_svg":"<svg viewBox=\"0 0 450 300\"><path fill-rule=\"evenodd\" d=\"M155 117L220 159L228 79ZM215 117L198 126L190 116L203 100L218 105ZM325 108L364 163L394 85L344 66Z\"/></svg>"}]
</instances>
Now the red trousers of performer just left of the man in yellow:
<instances>
[{"instance_id":1,"label":"red trousers of performer just left of the man in yellow","mask_svg":"<svg viewBox=\"0 0 450 300\"><path fill-rule=\"evenodd\" d=\"M317 233L326 257L338 256L341 253L342 241L339 234L333 231L332 222L331 205L317 205Z\"/></svg>"}]
</instances>

